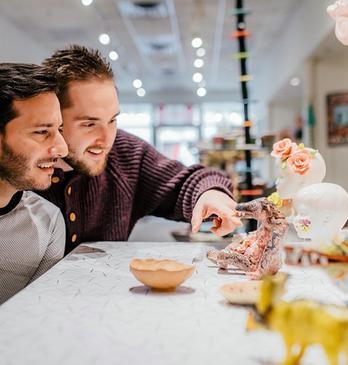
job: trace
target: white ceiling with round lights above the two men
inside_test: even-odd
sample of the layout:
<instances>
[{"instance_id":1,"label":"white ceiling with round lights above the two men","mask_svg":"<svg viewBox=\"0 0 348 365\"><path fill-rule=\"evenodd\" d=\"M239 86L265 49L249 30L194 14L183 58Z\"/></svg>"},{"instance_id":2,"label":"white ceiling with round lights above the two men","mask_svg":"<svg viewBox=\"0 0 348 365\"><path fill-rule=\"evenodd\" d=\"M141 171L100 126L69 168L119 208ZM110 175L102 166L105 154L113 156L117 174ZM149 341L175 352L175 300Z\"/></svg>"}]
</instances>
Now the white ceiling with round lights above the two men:
<instances>
[{"instance_id":1,"label":"white ceiling with round lights above the two men","mask_svg":"<svg viewBox=\"0 0 348 365\"><path fill-rule=\"evenodd\" d=\"M248 50L254 78L258 62L286 30L301 1L245 0L245 7L252 11L247 27L252 32ZM134 78L142 79L147 95L173 90L195 93L195 50L191 39L200 36L207 51L205 66L199 70L205 78L207 96L239 96L239 64L233 58L237 41L229 38L235 28L234 0L158 0L152 2L159 2L160 6L147 12L135 6L137 2L150 3L94 0L85 7L80 0L0 0L0 14L41 44L47 55L71 43L97 47L105 56L116 50L120 58L112 64L123 93L134 93ZM109 45L98 42L100 33L110 35ZM18 47L30 52L28 44Z\"/></svg>"}]
</instances>

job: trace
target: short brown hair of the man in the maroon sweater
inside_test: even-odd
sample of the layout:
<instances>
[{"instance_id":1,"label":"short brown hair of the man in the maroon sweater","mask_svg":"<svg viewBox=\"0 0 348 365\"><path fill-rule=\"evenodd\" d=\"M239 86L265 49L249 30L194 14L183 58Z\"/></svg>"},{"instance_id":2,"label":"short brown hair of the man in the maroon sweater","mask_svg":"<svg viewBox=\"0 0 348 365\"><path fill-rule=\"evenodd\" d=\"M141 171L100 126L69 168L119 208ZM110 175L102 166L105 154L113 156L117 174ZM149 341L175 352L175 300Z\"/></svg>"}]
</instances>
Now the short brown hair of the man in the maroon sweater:
<instances>
[{"instance_id":1,"label":"short brown hair of the man in the maroon sweater","mask_svg":"<svg viewBox=\"0 0 348 365\"><path fill-rule=\"evenodd\" d=\"M68 98L70 82L92 79L112 80L114 77L110 63L98 50L79 45L57 50L51 57L44 60L43 65L57 77L58 99L62 108L70 106Z\"/></svg>"}]
</instances>

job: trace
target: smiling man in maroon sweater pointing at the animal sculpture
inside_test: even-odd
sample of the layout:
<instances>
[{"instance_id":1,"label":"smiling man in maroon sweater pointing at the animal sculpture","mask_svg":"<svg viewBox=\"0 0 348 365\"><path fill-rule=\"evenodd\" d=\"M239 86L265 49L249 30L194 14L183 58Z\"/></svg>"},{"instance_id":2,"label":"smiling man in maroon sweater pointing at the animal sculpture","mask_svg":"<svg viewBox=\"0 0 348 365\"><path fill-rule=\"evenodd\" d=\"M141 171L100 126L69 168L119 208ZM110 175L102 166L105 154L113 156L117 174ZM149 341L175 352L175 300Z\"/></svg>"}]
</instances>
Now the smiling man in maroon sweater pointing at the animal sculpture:
<instances>
[{"instance_id":1,"label":"smiling man in maroon sweater pointing at the animal sculpture","mask_svg":"<svg viewBox=\"0 0 348 365\"><path fill-rule=\"evenodd\" d=\"M72 46L44 61L59 82L63 136L69 155L42 195L60 207L66 253L81 242L127 240L146 215L190 221L193 231L215 215L212 231L225 235L232 216L231 181L202 165L185 167L122 130L110 65L99 52ZM116 137L117 132L117 137Z\"/></svg>"}]
</instances>

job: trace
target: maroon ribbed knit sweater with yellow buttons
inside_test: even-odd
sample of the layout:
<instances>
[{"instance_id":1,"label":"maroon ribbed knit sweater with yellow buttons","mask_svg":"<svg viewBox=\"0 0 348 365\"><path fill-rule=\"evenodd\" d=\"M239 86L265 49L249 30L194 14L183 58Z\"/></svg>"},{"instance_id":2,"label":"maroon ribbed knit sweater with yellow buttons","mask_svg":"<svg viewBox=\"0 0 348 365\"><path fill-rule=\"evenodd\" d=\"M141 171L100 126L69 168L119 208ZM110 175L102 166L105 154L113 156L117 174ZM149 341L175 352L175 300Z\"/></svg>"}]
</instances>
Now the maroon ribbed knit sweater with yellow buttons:
<instances>
[{"instance_id":1,"label":"maroon ribbed knit sweater with yellow buttons","mask_svg":"<svg viewBox=\"0 0 348 365\"><path fill-rule=\"evenodd\" d=\"M221 172L202 165L185 167L122 130L101 175L56 169L52 182L39 193L63 213L66 253L81 242L126 241L146 215L189 221L203 192L232 191L231 181Z\"/></svg>"}]
</instances>

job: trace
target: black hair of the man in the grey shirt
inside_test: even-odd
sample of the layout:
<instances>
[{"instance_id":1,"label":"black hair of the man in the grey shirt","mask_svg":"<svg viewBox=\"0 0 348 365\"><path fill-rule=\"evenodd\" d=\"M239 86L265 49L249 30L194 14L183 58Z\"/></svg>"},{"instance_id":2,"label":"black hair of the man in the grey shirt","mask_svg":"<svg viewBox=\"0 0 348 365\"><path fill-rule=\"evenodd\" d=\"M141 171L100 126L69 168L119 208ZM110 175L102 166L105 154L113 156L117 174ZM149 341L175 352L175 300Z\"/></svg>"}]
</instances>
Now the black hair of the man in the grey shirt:
<instances>
[{"instance_id":1,"label":"black hair of the man in the grey shirt","mask_svg":"<svg viewBox=\"0 0 348 365\"><path fill-rule=\"evenodd\" d=\"M43 66L0 63L0 133L18 116L15 100L32 98L43 92L57 93L57 79Z\"/></svg>"}]
</instances>

